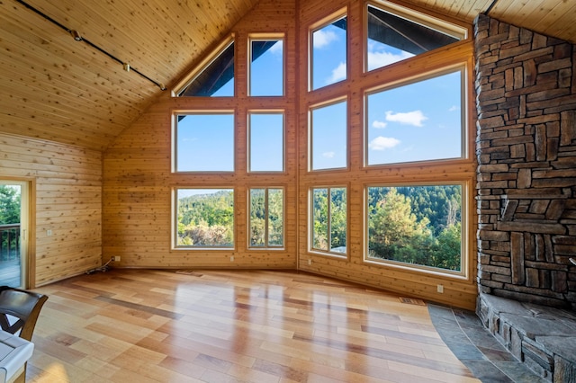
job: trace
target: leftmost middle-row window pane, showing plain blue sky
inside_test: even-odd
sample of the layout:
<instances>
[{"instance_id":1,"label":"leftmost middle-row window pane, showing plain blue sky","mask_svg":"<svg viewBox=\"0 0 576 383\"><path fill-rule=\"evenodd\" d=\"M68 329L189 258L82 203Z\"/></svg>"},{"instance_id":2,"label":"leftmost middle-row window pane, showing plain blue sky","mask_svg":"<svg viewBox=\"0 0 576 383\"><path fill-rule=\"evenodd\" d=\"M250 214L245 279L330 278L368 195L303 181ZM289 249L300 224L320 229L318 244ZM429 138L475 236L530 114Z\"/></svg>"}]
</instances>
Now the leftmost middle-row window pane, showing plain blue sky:
<instances>
[{"instance_id":1,"label":"leftmost middle-row window pane, showing plain blue sky","mask_svg":"<svg viewBox=\"0 0 576 383\"><path fill-rule=\"evenodd\" d=\"M176 116L176 172L233 172L234 115Z\"/></svg>"}]
</instances>

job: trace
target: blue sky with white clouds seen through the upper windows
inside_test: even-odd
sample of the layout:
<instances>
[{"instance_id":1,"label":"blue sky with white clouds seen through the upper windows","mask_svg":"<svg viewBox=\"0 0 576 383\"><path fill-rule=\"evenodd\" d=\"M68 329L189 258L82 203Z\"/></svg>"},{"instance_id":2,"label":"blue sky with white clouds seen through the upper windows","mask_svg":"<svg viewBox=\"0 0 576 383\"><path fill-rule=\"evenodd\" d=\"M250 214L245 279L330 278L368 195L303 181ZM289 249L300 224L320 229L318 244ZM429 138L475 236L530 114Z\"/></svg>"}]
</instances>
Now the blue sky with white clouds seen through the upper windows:
<instances>
[{"instance_id":1,"label":"blue sky with white clouds seen through the upper windows","mask_svg":"<svg viewBox=\"0 0 576 383\"><path fill-rule=\"evenodd\" d=\"M347 80L347 31L329 24L312 33L311 88ZM409 52L368 40L368 70L412 57ZM283 44L278 41L251 65L253 94L282 94ZM460 70L365 95L365 165L458 158L463 153ZM233 79L217 94L231 94ZM343 94L343 96L346 94ZM311 109L311 169L347 167L347 106L339 100ZM284 170L282 114L249 120L250 170ZM178 171L234 171L234 116L188 115L178 122Z\"/></svg>"}]
</instances>

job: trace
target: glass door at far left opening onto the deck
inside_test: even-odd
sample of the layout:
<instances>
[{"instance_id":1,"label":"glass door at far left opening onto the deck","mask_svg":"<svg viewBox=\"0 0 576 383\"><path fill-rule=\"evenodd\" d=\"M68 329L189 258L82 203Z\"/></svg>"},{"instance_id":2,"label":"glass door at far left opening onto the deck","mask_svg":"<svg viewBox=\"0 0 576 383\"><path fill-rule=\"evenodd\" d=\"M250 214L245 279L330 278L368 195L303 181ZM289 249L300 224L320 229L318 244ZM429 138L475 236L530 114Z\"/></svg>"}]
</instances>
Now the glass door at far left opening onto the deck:
<instances>
[{"instance_id":1,"label":"glass door at far left opening onto the deck","mask_svg":"<svg viewBox=\"0 0 576 383\"><path fill-rule=\"evenodd\" d=\"M0 180L0 286L26 288L28 183Z\"/></svg>"}]
</instances>

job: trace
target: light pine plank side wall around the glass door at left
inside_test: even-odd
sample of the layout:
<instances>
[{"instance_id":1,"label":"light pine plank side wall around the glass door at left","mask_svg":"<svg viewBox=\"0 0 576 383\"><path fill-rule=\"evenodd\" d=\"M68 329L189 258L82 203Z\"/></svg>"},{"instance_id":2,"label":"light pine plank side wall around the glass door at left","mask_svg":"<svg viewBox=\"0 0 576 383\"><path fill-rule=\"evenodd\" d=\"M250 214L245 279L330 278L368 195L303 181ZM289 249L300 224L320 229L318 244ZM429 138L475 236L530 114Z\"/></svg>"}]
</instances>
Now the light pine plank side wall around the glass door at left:
<instances>
[{"instance_id":1,"label":"light pine plank side wall around the glass door at left","mask_svg":"<svg viewBox=\"0 0 576 383\"><path fill-rule=\"evenodd\" d=\"M99 266L102 152L8 134L0 134L0 147L0 178L33 187L30 287Z\"/></svg>"}]
</instances>

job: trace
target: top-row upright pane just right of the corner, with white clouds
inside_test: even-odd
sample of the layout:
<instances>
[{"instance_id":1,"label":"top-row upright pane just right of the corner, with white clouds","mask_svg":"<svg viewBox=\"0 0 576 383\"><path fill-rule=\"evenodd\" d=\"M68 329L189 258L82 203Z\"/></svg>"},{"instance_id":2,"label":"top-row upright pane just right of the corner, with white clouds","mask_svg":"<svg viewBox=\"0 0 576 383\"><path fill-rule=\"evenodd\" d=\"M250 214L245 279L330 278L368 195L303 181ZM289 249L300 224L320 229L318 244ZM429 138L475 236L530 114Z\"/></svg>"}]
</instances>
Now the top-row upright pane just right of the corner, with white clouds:
<instances>
[{"instance_id":1,"label":"top-row upright pane just right of the corner, with white clouds","mask_svg":"<svg viewBox=\"0 0 576 383\"><path fill-rule=\"evenodd\" d=\"M312 90L347 78L347 18L312 32Z\"/></svg>"}]
</instances>

